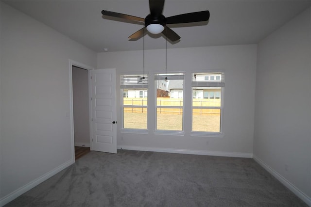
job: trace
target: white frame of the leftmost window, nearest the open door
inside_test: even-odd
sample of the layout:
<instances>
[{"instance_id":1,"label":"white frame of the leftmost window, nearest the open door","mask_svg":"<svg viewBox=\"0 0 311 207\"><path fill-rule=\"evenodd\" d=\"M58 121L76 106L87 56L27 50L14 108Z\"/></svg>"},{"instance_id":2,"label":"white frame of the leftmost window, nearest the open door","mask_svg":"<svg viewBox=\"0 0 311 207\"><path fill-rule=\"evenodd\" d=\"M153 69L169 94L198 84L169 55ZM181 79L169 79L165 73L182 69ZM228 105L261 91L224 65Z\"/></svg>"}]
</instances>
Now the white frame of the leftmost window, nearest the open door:
<instances>
[{"instance_id":1,"label":"white frame of the leftmost window, nearest the open door","mask_svg":"<svg viewBox=\"0 0 311 207\"><path fill-rule=\"evenodd\" d=\"M132 81L131 77L144 77L143 80L140 81ZM141 74L121 74L120 75L120 89L121 89L121 133L139 133L139 134L148 134L148 74L141 75ZM146 108L147 109L147 128L146 129L139 129L139 128L124 128L124 107L129 107L129 105L124 105L123 103L123 90L124 89L147 89L147 105L130 105L131 107L135 108ZM138 92L139 93L139 92ZM143 97L145 97L145 93L143 92Z\"/></svg>"}]
</instances>

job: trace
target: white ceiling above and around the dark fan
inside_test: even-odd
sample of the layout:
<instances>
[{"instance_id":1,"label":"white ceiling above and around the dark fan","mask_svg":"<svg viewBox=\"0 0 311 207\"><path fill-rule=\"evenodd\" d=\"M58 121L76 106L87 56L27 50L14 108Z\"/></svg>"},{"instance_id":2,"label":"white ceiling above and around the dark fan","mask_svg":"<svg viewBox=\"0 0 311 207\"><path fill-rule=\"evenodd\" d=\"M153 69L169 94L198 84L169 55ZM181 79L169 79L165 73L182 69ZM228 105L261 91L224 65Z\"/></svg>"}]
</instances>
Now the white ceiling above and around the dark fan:
<instances>
[{"instance_id":1,"label":"white ceiling above and around the dark fan","mask_svg":"<svg viewBox=\"0 0 311 207\"><path fill-rule=\"evenodd\" d=\"M103 18L108 10L145 18L148 0L5 0L12 7L52 27L96 52L140 50L143 38L128 36L141 24ZM208 22L168 25L181 39L171 43L163 36L146 35L145 49L256 44L308 7L310 0L166 0L163 15L209 10Z\"/></svg>"}]
</instances>

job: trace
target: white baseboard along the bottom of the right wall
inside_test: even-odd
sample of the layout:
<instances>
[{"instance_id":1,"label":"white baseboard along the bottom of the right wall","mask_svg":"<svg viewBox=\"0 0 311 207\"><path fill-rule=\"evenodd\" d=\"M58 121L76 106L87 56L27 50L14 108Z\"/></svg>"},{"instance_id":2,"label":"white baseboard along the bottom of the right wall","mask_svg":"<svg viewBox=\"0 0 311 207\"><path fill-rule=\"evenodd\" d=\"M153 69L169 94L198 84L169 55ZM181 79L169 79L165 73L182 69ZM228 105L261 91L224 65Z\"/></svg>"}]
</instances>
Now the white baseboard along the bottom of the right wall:
<instances>
[{"instance_id":1,"label":"white baseboard along the bottom of the right wall","mask_svg":"<svg viewBox=\"0 0 311 207\"><path fill-rule=\"evenodd\" d=\"M303 200L307 205L311 206L311 198L307 196L305 193L296 188L290 181L285 179L282 175L273 170L269 165L267 165L264 161L253 156L253 159L258 162L264 169L266 169L271 175L273 175L278 181L280 181L284 186L286 186L290 191L292 191L295 195L297 195L301 200Z\"/></svg>"}]
</instances>

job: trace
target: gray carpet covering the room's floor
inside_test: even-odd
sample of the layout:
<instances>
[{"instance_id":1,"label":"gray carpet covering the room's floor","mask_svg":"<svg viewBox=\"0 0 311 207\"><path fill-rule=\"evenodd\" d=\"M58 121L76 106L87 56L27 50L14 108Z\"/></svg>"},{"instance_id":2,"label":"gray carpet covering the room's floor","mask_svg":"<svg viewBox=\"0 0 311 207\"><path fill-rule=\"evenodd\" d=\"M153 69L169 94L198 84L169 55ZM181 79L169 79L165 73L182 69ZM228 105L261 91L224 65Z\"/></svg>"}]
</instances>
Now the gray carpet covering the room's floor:
<instances>
[{"instance_id":1,"label":"gray carpet covering the room's floor","mask_svg":"<svg viewBox=\"0 0 311 207\"><path fill-rule=\"evenodd\" d=\"M304 207L253 159L90 152L5 207Z\"/></svg>"}]
</instances>

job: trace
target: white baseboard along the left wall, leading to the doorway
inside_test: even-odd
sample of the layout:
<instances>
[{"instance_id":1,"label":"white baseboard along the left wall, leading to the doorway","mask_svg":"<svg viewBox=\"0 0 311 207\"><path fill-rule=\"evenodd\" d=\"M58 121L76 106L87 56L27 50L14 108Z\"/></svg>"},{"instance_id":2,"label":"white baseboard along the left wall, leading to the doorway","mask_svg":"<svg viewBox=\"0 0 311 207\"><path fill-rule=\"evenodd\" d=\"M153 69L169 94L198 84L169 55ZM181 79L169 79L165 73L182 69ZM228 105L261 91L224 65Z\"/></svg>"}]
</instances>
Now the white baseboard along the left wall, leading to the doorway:
<instances>
[{"instance_id":1,"label":"white baseboard along the left wall, leading to the doorway","mask_svg":"<svg viewBox=\"0 0 311 207\"><path fill-rule=\"evenodd\" d=\"M0 199L0 206L4 206L5 204L13 201L14 199L16 199L18 196L20 196L21 194L31 190L32 188L34 188L35 186L39 185L40 183L42 183L43 181L49 179L50 177L52 177L53 175L56 175L57 173L59 173L60 171L64 170L65 168L69 167L71 164L74 163L74 159L70 159L69 161L65 162L64 164L54 168L52 171L38 177L37 179L31 181L30 183L20 187L19 189L11 192L10 194L4 196L3 198Z\"/></svg>"}]
</instances>

